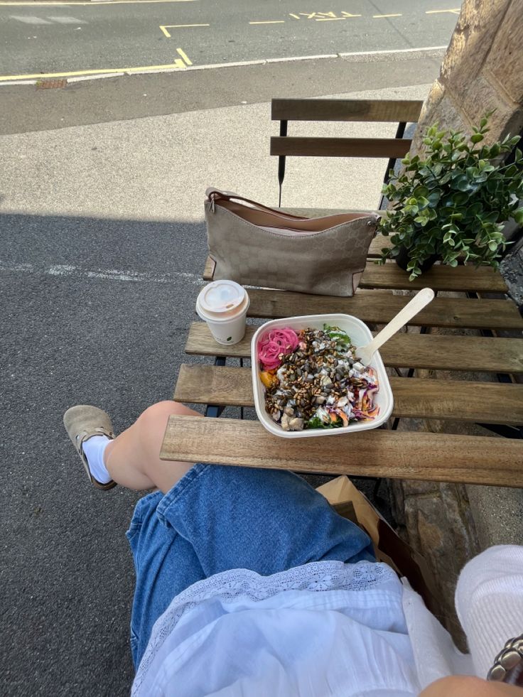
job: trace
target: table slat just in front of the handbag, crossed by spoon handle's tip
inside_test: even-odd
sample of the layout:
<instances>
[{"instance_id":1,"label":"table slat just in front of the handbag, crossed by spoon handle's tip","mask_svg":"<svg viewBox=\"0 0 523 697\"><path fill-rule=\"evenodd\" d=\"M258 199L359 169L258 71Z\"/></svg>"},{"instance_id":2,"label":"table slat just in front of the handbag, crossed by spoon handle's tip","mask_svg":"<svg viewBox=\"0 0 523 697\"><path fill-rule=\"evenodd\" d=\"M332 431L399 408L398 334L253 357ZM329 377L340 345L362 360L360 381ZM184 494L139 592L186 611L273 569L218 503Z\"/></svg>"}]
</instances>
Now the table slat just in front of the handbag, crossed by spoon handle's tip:
<instances>
[{"instance_id":1,"label":"table slat just in front of the handbag, crossed by spoon handle's tip","mask_svg":"<svg viewBox=\"0 0 523 697\"><path fill-rule=\"evenodd\" d=\"M352 298L313 296L291 291L249 288L249 317L343 313L367 323L387 323L411 298L384 291L358 290ZM523 330L523 318L509 300L435 298L409 323L419 327Z\"/></svg>"}]
</instances>

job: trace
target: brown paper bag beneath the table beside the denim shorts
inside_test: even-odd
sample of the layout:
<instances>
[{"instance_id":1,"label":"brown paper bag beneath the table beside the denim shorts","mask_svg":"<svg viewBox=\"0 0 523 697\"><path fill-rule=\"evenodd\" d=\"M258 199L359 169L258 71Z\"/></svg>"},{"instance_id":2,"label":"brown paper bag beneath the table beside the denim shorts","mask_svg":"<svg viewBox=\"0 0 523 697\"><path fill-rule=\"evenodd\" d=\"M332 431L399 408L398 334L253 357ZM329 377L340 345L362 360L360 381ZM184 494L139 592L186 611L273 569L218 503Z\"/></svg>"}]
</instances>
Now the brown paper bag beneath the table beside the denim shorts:
<instances>
[{"instance_id":1,"label":"brown paper bag beneath the table beside the denim shorts","mask_svg":"<svg viewBox=\"0 0 523 697\"><path fill-rule=\"evenodd\" d=\"M392 566L399 576L406 576L410 585L424 599L431 612L438 610L434 578L426 560L394 531L348 477L337 477L318 487L344 518L360 526L372 539L378 561Z\"/></svg>"}]
</instances>

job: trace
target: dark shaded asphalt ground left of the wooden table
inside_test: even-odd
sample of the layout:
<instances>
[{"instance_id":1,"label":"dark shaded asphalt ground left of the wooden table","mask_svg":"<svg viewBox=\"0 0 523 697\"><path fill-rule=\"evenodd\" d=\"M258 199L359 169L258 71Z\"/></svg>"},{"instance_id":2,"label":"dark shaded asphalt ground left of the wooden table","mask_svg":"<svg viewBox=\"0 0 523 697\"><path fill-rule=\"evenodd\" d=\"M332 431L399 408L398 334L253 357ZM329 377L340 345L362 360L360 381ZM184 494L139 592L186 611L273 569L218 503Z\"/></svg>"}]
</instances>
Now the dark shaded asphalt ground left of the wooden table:
<instances>
[{"instance_id":1,"label":"dark shaded asphalt ground left of the wooden table","mask_svg":"<svg viewBox=\"0 0 523 697\"><path fill-rule=\"evenodd\" d=\"M205 226L0 214L0 229L0 692L126 695L140 494L89 485L62 415L96 404L121 431L172 395Z\"/></svg>"}]
</instances>

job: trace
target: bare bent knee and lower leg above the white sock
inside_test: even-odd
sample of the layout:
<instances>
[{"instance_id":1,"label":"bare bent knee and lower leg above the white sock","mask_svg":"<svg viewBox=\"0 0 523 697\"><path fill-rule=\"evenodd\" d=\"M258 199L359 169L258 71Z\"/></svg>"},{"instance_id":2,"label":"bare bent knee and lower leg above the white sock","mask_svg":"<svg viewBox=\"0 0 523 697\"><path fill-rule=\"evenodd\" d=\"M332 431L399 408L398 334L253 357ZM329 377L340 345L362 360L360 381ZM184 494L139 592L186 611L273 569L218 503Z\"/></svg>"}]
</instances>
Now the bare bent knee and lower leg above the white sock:
<instances>
[{"instance_id":1,"label":"bare bent knee and lower leg above the white sock","mask_svg":"<svg viewBox=\"0 0 523 697\"><path fill-rule=\"evenodd\" d=\"M165 494L190 470L193 463L160 460L161 443L171 414L202 416L176 401L149 406L105 449L104 463L115 482L138 491L157 487Z\"/></svg>"}]
</instances>

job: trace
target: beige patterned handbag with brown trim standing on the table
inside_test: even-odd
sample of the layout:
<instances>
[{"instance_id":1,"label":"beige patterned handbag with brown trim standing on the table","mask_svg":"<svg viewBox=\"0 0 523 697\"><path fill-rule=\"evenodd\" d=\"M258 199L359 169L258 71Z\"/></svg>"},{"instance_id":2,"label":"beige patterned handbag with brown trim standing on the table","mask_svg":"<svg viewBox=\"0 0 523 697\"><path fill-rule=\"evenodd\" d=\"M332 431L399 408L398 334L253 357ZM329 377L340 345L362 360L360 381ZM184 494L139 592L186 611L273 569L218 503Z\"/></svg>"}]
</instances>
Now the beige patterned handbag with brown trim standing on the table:
<instances>
[{"instance_id":1,"label":"beige patterned handbag with brown trim standing on the table","mask_svg":"<svg viewBox=\"0 0 523 697\"><path fill-rule=\"evenodd\" d=\"M306 218L230 191L210 188L206 195L207 240L216 280L330 296L352 296L356 290L379 216Z\"/></svg>"}]
</instances>

